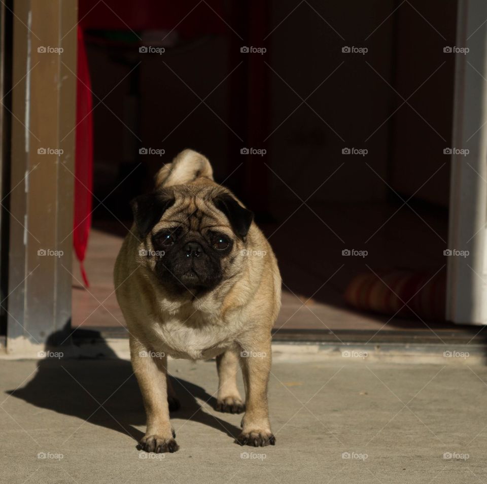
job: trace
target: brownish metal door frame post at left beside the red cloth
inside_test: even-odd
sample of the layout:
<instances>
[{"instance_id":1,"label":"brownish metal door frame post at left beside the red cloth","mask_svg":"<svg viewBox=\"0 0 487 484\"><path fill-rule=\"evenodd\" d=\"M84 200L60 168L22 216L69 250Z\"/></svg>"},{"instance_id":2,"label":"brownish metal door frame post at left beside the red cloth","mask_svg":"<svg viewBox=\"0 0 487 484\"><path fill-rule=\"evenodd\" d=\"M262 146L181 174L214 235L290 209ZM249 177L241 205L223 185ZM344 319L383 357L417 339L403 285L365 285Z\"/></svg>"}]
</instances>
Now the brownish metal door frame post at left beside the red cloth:
<instances>
[{"instance_id":1,"label":"brownish metal door frame post at left beside the red cloth","mask_svg":"<svg viewBox=\"0 0 487 484\"><path fill-rule=\"evenodd\" d=\"M8 353L71 319L77 21L76 0L13 2Z\"/></svg>"}]
</instances>

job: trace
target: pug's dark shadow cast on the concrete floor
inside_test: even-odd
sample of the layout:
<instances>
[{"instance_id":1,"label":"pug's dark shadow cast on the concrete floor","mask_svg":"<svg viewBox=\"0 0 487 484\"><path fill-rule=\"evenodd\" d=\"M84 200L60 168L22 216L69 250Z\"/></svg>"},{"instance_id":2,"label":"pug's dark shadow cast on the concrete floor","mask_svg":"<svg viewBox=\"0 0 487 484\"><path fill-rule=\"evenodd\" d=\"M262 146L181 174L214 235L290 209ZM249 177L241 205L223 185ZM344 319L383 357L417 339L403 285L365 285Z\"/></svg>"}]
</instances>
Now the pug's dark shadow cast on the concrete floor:
<instances>
[{"instance_id":1,"label":"pug's dark shadow cast on the concrete floor","mask_svg":"<svg viewBox=\"0 0 487 484\"><path fill-rule=\"evenodd\" d=\"M83 331L85 336L103 341L98 332ZM138 442L144 433L134 426L144 425L146 416L130 362L117 358L106 343L98 345L99 358L58 358L55 352L62 350L52 345L55 339L58 336L53 335L46 344L46 351L52 353L40 360L34 377L25 386L7 391L11 398L20 398L40 408L78 417L81 420L79 427L69 430L66 439L89 422L130 435ZM236 439L240 433L238 427L207 413L196 400L200 399L214 408L216 399L212 395L183 379L171 379L181 403L180 409L171 412L172 421L191 420Z\"/></svg>"}]
</instances>

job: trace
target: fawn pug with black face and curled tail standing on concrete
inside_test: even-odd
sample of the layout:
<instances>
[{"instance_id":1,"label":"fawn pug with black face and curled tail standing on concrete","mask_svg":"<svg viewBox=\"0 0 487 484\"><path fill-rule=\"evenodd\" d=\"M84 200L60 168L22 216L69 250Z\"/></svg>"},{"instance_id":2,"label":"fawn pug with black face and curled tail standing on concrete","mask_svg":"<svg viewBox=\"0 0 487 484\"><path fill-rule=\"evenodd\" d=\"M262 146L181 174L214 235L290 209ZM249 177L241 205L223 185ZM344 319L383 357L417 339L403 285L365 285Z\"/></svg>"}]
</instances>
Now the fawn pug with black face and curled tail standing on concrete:
<instances>
[{"instance_id":1,"label":"fawn pug with black face and curled tail standing on concrete","mask_svg":"<svg viewBox=\"0 0 487 484\"><path fill-rule=\"evenodd\" d=\"M147 414L137 448L175 452L167 356L216 357L216 410L245 411L238 443L274 445L267 405L271 328L281 306L281 275L253 214L213 180L210 162L185 150L132 201L134 223L114 270L130 334L133 371ZM236 385L241 366L246 399Z\"/></svg>"}]
</instances>

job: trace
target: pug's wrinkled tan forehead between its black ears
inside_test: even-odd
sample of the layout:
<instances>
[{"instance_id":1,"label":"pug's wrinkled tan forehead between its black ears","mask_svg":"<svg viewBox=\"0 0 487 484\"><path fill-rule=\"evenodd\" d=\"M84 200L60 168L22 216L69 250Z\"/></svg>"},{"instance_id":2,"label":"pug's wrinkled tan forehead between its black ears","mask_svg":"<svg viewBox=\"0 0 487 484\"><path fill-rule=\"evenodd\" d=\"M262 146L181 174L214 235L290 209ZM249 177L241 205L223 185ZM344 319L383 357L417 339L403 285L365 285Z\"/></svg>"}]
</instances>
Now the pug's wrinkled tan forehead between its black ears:
<instances>
[{"instance_id":1,"label":"pug's wrinkled tan forehead between its black ears","mask_svg":"<svg viewBox=\"0 0 487 484\"><path fill-rule=\"evenodd\" d=\"M216 208L211 198L198 195L176 195L175 203L166 210L154 231L176 226L183 226L186 230L194 232L213 229L232 233L228 220Z\"/></svg>"}]
</instances>

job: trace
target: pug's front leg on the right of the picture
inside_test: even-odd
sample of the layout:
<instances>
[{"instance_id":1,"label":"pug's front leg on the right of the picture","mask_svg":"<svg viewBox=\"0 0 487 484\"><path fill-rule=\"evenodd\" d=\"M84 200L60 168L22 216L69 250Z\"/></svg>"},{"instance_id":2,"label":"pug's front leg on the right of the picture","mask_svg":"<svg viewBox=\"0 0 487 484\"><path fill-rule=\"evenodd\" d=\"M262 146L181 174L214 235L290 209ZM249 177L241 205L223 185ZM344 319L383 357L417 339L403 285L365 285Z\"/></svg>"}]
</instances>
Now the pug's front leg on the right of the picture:
<instances>
[{"instance_id":1,"label":"pug's front leg on the right of the picture","mask_svg":"<svg viewBox=\"0 0 487 484\"><path fill-rule=\"evenodd\" d=\"M242 433L237 440L242 445L263 447L274 445L267 406L267 383L271 363L270 338L245 345L240 353L246 391L246 412L242 419Z\"/></svg>"}]
</instances>

